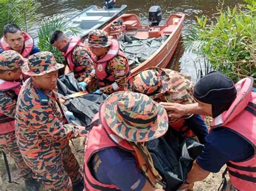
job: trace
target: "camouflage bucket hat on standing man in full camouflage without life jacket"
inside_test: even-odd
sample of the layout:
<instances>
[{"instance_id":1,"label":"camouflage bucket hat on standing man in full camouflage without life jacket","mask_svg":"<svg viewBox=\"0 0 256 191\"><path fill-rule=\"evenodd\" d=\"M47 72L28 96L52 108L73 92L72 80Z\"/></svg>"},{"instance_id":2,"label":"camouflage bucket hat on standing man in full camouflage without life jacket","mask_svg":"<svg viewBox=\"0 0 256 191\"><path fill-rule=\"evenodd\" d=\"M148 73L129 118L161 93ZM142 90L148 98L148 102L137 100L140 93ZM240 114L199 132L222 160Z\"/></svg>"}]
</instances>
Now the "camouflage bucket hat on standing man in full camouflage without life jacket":
<instances>
[{"instance_id":1,"label":"camouflage bucket hat on standing man in full camouflage without life jacket","mask_svg":"<svg viewBox=\"0 0 256 191\"><path fill-rule=\"evenodd\" d=\"M51 52L38 52L29 56L28 65L23 67L22 72L30 76L41 76L63 67L56 62Z\"/></svg>"}]
</instances>

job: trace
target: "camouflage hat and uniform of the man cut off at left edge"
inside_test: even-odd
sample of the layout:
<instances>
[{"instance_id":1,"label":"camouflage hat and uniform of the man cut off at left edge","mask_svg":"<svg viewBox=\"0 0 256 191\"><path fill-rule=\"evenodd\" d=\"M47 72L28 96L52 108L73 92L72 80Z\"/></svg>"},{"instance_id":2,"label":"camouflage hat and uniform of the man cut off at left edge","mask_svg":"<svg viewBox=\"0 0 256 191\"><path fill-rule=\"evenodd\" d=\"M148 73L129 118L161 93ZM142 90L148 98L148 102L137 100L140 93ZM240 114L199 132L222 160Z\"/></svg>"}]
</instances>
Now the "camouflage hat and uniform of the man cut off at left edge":
<instances>
[{"instance_id":1,"label":"camouflage hat and uniform of the man cut off at left edge","mask_svg":"<svg viewBox=\"0 0 256 191\"><path fill-rule=\"evenodd\" d=\"M24 60L20 54L15 51L5 51L0 54L0 69L11 70L21 67ZM1 80L1 84L5 81ZM17 82L18 84L18 82ZM16 89L0 90L0 122L3 126L1 128L10 128L10 130L3 129L4 133L0 133L0 148L5 153L10 153L11 157L15 160L19 175L25 176L30 174L31 169L26 166L22 154L19 151L15 131L14 131L14 120L16 112L16 100L19 90L19 84ZM16 90L16 91L15 91ZM9 119L4 122L4 119Z\"/></svg>"}]
</instances>

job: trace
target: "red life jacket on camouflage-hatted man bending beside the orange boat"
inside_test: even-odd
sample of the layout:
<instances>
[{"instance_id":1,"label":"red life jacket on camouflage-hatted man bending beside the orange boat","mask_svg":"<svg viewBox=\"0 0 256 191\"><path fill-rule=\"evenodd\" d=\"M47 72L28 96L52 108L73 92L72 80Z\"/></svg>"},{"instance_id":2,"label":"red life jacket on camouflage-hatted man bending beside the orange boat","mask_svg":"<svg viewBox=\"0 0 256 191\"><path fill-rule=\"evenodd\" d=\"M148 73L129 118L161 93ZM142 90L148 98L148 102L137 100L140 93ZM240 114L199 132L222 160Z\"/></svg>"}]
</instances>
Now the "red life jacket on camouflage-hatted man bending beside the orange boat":
<instances>
[{"instance_id":1,"label":"red life jacket on camouflage-hatted man bending beside the orange boat","mask_svg":"<svg viewBox=\"0 0 256 191\"><path fill-rule=\"evenodd\" d=\"M98 80L99 87L109 86L115 82L114 76L110 73L107 73L106 69L107 69L107 63L110 60L113 60L113 58L116 57L117 55L124 57L127 61L127 65L125 68L126 79L128 79L131 76L128 59L126 55L122 51L120 51L118 41L113 39L112 44L110 45L109 51L106 53L106 55L102 59L97 60L97 56L93 58L93 60L95 61L96 77ZM118 89L118 91L123 91L123 90L124 88Z\"/></svg>"}]
</instances>

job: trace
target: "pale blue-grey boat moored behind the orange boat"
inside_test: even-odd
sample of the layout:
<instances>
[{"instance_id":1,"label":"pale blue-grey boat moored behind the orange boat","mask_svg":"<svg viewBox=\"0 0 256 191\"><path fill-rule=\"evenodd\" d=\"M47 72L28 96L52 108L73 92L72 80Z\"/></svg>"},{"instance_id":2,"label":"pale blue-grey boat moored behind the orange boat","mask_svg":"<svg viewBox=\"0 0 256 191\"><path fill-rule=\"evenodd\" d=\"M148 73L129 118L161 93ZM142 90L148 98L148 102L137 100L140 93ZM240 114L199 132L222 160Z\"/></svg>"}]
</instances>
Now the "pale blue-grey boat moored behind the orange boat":
<instances>
[{"instance_id":1,"label":"pale blue-grey boat moored behind the orange boat","mask_svg":"<svg viewBox=\"0 0 256 191\"><path fill-rule=\"evenodd\" d=\"M82 36L86 36L92 29L102 29L112 20L123 15L126 7L127 5L122 5L120 8L104 9L96 5L89 6L89 8L70 18L70 26L79 28ZM67 34L70 35L69 33ZM38 37L35 37L34 41L37 44Z\"/></svg>"}]
</instances>

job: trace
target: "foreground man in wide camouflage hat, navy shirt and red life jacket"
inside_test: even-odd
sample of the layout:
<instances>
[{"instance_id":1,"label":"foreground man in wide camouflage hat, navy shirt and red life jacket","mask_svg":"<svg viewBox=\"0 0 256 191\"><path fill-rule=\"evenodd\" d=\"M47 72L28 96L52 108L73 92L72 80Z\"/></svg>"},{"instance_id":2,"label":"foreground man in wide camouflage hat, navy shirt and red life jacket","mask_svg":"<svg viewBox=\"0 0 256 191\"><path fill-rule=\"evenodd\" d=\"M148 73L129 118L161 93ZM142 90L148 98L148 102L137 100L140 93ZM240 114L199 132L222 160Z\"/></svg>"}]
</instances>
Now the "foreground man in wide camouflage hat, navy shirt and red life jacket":
<instances>
[{"instance_id":1,"label":"foreground man in wide camouflage hat, navy shirt and red life jacket","mask_svg":"<svg viewBox=\"0 0 256 191\"><path fill-rule=\"evenodd\" d=\"M85 189L164 190L144 143L167 129L165 109L150 97L131 91L111 94L93 118L87 137Z\"/></svg>"}]
</instances>

